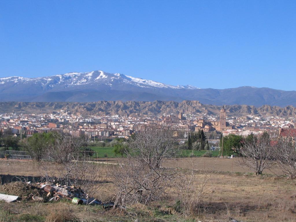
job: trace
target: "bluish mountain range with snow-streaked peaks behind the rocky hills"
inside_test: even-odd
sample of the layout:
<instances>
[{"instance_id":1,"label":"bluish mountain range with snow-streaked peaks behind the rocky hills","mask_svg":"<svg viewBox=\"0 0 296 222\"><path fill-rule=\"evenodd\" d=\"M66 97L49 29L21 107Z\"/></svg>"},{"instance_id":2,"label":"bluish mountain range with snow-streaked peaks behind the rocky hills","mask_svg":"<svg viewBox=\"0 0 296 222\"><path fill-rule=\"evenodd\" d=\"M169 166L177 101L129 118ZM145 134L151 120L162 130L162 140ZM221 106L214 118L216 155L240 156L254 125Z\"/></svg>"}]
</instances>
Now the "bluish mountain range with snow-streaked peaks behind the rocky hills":
<instances>
[{"instance_id":1,"label":"bluish mountain range with snow-streaked peaks behind the rocky hills","mask_svg":"<svg viewBox=\"0 0 296 222\"><path fill-rule=\"evenodd\" d=\"M209 78L209 81L215 81ZM198 84L198 83L196 83ZM198 100L213 105L296 106L296 91L242 86L231 89L200 89L172 86L100 70L50 77L0 78L0 102L96 102L96 101Z\"/></svg>"}]
</instances>

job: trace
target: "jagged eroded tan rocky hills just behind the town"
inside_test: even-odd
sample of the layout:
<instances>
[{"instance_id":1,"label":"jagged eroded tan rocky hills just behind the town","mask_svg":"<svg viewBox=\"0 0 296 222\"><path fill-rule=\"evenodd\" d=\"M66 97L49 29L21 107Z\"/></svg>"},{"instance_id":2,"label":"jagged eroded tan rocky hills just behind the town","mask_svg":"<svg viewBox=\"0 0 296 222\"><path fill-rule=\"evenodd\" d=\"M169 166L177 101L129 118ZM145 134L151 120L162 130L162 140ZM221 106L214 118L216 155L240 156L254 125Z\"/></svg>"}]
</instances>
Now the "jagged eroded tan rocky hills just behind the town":
<instances>
[{"instance_id":1,"label":"jagged eroded tan rocky hills just behind the town","mask_svg":"<svg viewBox=\"0 0 296 222\"><path fill-rule=\"evenodd\" d=\"M264 115L289 117L296 115L293 106L225 105L228 116ZM82 115L161 115L163 113L219 114L221 106L204 105L199 101L99 101L99 102L0 102L0 112L48 113L60 110Z\"/></svg>"}]
</instances>

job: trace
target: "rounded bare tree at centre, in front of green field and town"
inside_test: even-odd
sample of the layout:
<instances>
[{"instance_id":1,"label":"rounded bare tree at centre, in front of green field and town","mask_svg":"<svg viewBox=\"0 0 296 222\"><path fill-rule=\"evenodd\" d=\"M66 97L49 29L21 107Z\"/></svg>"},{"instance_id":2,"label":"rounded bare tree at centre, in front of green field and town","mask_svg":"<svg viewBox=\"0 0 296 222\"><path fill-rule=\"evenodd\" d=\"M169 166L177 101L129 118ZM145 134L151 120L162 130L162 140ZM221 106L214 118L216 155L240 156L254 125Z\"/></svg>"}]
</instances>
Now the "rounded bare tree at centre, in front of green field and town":
<instances>
[{"instance_id":1,"label":"rounded bare tree at centre, in front of green field and town","mask_svg":"<svg viewBox=\"0 0 296 222\"><path fill-rule=\"evenodd\" d=\"M131 138L128 155L150 168L159 168L164 160L176 154L178 136L179 132L169 126L146 126Z\"/></svg>"}]
</instances>

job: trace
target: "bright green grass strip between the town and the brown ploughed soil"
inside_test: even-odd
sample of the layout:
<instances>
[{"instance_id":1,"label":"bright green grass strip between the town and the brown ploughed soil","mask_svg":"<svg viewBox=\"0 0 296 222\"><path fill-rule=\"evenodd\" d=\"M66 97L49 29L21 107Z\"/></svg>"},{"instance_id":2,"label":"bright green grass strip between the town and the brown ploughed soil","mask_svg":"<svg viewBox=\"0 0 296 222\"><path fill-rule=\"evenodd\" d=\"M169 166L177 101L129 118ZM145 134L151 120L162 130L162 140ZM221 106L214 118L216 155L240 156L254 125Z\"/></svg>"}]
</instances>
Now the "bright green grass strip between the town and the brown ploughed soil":
<instances>
[{"instance_id":1,"label":"bright green grass strip between the town and the brown ploughed soil","mask_svg":"<svg viewBox=\"0 0 296 222\"><path fill-rule=\"evenodd\" d=\"M120 155L115 156L113 152L113 147L88 147L95 151L94 158L114 158L114 157L121 157ZM180 152L176 154L176 157L201 157L203 154L207 152L206 150L191 150L191 149L182 149ZM213 157L219 156L219 151L211 151L213 153Z\"/></svg>"}]
</instances>

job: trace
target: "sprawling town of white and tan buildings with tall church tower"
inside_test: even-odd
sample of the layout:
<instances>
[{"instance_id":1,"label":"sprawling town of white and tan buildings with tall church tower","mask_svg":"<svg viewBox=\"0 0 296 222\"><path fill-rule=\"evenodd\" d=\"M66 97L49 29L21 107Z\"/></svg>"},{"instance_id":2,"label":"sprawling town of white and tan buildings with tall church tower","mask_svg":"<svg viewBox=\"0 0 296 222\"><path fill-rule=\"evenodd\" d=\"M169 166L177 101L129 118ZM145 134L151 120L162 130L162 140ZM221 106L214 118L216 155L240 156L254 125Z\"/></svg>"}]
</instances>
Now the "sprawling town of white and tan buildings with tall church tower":
<instances>
[{"instance_id":1,"label":"sprawling town of white and tan buildings with tall church tower","mask_svg":"<svg viewBox=\"0 0 296 222\"><path fill-rule=\"evenodd\" d=\"M189 132L202 130L209 141L219 139L229 134L247 136L250 133L260 134L268 132L271 136L278 136L285 129L294 129L296 117L255 116L244 117L228 116L224 106L220 115L193 115L191 113L164 113L161 116L126 117L120 115L83 116L73 115L64 110L54 113L0 114L0 129L4 135L20 138L30 137L34 133L62 131L75 137L86 136L93 141L104 139L128 139L134 132L143 129L146 125L155 123L171 126L173 129L184 132L184 139Z\"/></svg>"}]
</instances>

